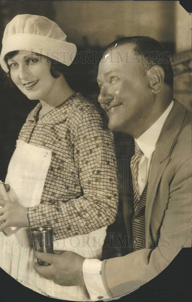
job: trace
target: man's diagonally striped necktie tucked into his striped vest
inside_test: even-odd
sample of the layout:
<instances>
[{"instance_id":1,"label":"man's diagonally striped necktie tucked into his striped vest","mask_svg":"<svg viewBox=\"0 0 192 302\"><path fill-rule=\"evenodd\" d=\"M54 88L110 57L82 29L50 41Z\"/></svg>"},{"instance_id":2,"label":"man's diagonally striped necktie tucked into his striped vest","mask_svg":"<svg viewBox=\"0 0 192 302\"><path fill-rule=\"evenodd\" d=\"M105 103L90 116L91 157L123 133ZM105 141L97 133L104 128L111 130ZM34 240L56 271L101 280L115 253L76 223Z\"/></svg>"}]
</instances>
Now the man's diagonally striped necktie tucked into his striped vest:
<instances>
[{"instance_id":1,"label":"man's diagonally striped necktie tucked into his striped vest","mask_svg":"<svg viewBox=\"0 0 192 302\"><path fill-rule=\"evenodd\" d=\"M141 159L141 156L143 156L143 152L135 143L135 154L131 158L131 174L132 174L132 181L133 181L133 190L134 190L134 209L136 209L139 201L140 201L140 196L139 196L139 188L138 188L138 165Z\"/></svg>"}]
</instances>

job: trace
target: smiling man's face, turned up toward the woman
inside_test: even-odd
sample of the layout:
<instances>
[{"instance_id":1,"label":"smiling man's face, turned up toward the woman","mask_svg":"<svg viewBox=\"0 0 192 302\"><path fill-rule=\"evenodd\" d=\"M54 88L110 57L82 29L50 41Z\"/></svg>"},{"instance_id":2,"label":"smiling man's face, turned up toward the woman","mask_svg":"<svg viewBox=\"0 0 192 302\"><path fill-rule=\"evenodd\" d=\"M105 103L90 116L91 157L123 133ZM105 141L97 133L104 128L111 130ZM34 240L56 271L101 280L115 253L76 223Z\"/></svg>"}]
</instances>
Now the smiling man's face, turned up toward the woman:
<instances>
[{"instance_id":1,"label":"smiling man's face, turned up toward the woman","mask_svg":"<svg viewBox=\"0 0 192 302\"><path fill-rule=\"evenodd\" d=\"M109 129L130 133L133 127L142 127L153 102L149 78L142 73L133 45L120 45L102 58L97 82L98 101L108 113Z\"/></svg>"}]
</instances>

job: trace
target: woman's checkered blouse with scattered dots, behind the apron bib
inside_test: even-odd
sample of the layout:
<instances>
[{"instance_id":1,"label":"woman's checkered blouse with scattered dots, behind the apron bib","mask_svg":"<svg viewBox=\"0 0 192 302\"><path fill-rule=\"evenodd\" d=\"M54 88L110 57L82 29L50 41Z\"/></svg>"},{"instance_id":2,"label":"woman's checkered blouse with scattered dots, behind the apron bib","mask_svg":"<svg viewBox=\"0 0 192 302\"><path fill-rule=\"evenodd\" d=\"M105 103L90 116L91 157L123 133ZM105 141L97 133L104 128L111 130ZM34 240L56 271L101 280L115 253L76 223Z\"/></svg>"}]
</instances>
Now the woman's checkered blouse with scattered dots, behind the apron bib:
<instances>
[{"instance_id":1,"label":"woman's checkered blouse with scattered dots, behind the apron bib","mask_svg":"<svg viewBox=\"0 0 192 302\"><path fill-rule=\"evenodd\" d=\"M113 135L80 93L37 120L30 112L19 139L52 151L39 205L28 208L30 227L52 226L55 239L89 233L114 222L118 210Z\"/></svg>"}]
</instances>

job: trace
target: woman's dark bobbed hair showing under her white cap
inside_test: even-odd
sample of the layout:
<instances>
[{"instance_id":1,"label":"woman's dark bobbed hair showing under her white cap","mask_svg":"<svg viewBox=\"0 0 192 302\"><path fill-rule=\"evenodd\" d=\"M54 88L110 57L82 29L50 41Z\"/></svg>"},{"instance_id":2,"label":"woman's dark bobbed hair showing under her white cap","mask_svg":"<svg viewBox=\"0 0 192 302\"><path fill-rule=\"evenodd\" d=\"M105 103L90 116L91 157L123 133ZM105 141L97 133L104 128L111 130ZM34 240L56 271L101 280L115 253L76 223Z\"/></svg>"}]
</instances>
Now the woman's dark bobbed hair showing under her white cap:
<instances>
[{"instance_id":1,"label":"woman's dark bobbed hair showing under her white cap","mask_svg":"<svg viewBox=\"0 0 192 302\"><path fill-rule=\"evenodd\" d=\"M8 60L13 58L14 56L16 56L17 54L19 53L19 50L14 50L14 51L11 51L9 53L7 53L4 57L4 60L5 60L5 63L7 64L7 67L9 69L9 71L7 72L7 76L10 78L10 67L8 65ZM61 76L61 74L63 76L66 76L66 73L67 73L67 66L65 66L64 64L58 62L58 61L55 61L47 56L44 56L40 53L34 53L36 56L42 56L44 58L46 58L48 60L49 63L51 63L51 66L50 66L50 73L52 75L53 78L57 79Z\"/></svg>"}]
</instances>

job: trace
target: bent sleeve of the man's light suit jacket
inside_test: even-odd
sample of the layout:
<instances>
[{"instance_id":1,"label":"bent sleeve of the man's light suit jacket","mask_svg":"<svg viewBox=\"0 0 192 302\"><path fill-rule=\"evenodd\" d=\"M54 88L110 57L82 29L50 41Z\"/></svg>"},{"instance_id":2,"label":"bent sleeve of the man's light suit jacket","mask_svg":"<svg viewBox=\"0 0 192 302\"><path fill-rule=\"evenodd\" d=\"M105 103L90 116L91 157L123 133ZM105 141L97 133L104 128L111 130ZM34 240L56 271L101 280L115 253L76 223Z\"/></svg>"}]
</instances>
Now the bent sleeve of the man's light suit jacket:
<instances>
[{"instance_id":1,"label":"bent sleeve of the man's light suit jacket","mask_svg":"<svg viewBox=\"0 0 192 302\"><path fill-rule=\"evenodd\" d=\"M176 171L169 189L158 246L102 262L110 297L132 291L158 275L183 246L191 246L191 158Z\"/></svg>"}]
</instances>

